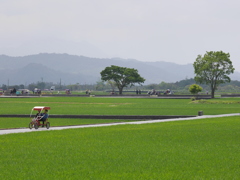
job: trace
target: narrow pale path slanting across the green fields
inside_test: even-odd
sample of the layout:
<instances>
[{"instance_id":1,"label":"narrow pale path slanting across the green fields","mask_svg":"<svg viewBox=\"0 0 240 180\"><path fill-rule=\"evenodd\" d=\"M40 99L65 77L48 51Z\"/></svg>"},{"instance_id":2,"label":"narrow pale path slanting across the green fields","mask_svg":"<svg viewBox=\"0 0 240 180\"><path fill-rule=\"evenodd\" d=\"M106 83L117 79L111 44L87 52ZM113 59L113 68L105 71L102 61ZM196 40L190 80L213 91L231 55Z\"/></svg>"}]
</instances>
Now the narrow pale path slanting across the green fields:
<instances>
[{"instance_id":1,"label":"narrow pale path slanting across the green fields","mask_svg":"<svg viewBox=\"0 0 240 180\"><path fill-rule=\"evenodd\" d=\"M183 121L183 120L197 120L205 118L217 118L217 117L227 117L227 116L239 116L240 113L235 114L220 114L220 115L203 115L191 118L174 118L174 119L160 119L160 120L148 120L148 121L134 121L134 122L121 122L121 123L109 123L109 124L90 124L90 125L78 125L78 126L62 126L62 127L50 127L49 129L39 128L39 129L6 129L0 130L0 135L12 134L12 133L26 133L26 132L36 132L36 131L52 131L52 130L63 130L63 129L73 129L73 128L90 128L90 127L103 127L103 126L116 126L124 124L148 124L148 123L159 123L167 121Z\"/></svg>"}]
</instances>

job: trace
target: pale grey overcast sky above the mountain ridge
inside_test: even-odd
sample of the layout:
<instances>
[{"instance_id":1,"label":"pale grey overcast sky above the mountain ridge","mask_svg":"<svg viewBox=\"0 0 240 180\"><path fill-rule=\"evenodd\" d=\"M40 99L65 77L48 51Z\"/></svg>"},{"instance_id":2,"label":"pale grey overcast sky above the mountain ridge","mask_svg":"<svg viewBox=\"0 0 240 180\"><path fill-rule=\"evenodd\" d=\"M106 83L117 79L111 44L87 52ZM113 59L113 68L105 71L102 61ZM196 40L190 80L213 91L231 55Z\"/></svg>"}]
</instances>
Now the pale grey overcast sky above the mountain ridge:
<instances>
[{"instance_id":1,"label":"pale grey overcast sky above the mountain ridge","mask_svg":"<svg viewBox=\"0 0 240 180\"><path fill-rule=\"evenodd\" d=\"M239 0L0 0L0 22L0 54L187 64L222 50L240 71Z\"/></svg>"}]
</instances>

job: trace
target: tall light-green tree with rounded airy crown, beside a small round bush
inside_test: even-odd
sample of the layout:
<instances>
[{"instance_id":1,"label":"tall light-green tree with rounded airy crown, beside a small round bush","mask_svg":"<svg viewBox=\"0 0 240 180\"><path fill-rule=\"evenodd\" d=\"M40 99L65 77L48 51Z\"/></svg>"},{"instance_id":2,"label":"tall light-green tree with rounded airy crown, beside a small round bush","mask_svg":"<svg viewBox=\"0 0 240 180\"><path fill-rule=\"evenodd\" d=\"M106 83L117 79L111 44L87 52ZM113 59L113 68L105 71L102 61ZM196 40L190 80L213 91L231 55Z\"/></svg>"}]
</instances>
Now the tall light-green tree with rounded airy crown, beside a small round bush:
<instances>
[{"instance_id":1,"label":"tall light-green tree with rounded airy crown, beside a small round bush","mask_svg":"<svg viewBox=\"0 0 240 180\"><path fill-rule=\"evenodd\" d=\"M234 72L230 54L222 51L210 51L204 56L198 55L193 67L196 74L195 81L210 85L212 98L218 85L230 82L228 75Z\"/></svg>"}]
</instances>

